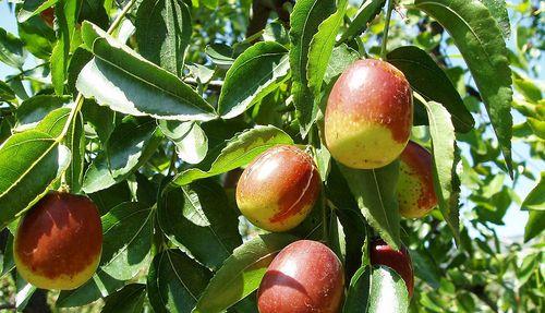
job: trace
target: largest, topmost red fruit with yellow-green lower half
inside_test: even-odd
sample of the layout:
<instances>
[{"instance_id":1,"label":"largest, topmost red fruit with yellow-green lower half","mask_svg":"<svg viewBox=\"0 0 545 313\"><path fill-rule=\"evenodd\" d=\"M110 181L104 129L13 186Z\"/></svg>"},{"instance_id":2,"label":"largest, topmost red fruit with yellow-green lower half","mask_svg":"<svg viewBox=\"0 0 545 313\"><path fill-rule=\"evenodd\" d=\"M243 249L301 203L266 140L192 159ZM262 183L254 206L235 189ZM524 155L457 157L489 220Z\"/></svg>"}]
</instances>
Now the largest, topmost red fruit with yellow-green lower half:
<instances>
[{"instance_id":1,"label":"largest, topmost red fruit with yellow-green lower half","mask_svg":"<svg viewBox=\"0 0 545 313\"><path fill-rule=\"evenodd\" d=\"M329 94L326 145L348 167L384 167L405 147L412 119L412 92L403 73L380 60L359 60L339 76Z\"/></svg>"}]
</instances>

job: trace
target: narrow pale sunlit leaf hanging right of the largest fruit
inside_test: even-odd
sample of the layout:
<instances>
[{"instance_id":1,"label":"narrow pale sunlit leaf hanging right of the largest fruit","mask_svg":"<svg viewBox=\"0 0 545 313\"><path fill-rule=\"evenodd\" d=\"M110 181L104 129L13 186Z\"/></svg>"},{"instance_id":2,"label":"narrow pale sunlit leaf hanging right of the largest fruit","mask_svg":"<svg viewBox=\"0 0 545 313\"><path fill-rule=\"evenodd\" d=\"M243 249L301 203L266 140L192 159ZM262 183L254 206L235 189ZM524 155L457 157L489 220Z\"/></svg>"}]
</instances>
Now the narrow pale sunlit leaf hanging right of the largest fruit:
<instances>
[{"instance_id":1,"label":"narrow pale sunlit leaf hanging right of the largest fruit","mask_svg":"<svg viewBox=\"0 0 545 313\"><path fill-rule=\"evenodd\" d=\"M456 146L455 127L450 113L434 101L424 104L429 120L432 155L434 158L434 185L439 209L455 238L460 242L459 195L460 181L456 167L460 155Z\"/></svg>"}]
</instances>

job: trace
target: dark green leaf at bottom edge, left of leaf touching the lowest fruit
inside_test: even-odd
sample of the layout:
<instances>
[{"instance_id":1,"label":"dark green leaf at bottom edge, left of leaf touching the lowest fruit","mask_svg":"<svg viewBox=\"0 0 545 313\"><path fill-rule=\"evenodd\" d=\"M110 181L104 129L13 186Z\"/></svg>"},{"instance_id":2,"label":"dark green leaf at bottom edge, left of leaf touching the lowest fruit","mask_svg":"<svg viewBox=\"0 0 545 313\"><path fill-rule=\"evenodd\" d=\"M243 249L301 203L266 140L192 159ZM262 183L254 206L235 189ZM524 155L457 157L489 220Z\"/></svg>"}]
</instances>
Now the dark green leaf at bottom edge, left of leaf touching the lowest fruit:
<instances>
[{"instance_id":1,"label":"dark green leaf at bottom edge, left of leaf touching the lowest fruit","mask_svg":"<svg viewBox=\"0 0 545 313\"><path fill-rule=\"evenodd\" d=\"M154 257L147 275L149 302L157 313L189 313L210 279L210 272L179 250Z\"/></svg>"}]
</instances>

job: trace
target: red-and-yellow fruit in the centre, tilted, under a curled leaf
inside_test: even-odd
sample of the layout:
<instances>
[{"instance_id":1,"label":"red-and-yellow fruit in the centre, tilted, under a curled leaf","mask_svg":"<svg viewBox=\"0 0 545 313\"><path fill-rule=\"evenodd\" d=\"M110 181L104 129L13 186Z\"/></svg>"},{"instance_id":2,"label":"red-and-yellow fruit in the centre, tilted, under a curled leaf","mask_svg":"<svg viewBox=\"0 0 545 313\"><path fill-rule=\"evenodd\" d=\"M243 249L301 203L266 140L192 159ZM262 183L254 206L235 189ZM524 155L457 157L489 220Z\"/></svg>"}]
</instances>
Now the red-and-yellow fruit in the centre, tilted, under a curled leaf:
<instances>
[{"instance_id":1,"label":"red-and-yellow fruit in the centre, tilted, under a curled leaf","mask_svg":"<svg viewBox=\"0 0 545 313\"><path fill-rule=\"evenodd\" d=\"M237 185L237 204L254 225L269 231L294 228L311 212L322 188L314 160L295 146L258 156Z\"/></svg>"}]
</instances>

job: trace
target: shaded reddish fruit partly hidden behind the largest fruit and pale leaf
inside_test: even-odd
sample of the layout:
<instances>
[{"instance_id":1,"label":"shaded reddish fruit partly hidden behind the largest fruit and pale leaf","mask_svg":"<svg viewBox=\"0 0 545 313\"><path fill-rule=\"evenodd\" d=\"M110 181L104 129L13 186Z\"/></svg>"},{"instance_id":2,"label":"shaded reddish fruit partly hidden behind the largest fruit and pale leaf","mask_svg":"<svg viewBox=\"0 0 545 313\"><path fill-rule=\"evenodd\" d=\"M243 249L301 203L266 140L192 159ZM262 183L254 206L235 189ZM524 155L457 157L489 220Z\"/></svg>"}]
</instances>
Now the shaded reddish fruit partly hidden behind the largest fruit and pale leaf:
<instances>
[{"instance_id":1,"label":"shaded reddish fruit partly hidden behind the largest fruit and pale leaf","mask_svg":"<svg viewBox=\"0 0 545 313\"><path fill-rule=\"evenodd\" d=\"M399 159L399 213L407 218L423 217L437 206L432 154L409 142Z\"/></svg>"}]
</instances>

